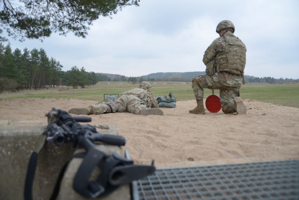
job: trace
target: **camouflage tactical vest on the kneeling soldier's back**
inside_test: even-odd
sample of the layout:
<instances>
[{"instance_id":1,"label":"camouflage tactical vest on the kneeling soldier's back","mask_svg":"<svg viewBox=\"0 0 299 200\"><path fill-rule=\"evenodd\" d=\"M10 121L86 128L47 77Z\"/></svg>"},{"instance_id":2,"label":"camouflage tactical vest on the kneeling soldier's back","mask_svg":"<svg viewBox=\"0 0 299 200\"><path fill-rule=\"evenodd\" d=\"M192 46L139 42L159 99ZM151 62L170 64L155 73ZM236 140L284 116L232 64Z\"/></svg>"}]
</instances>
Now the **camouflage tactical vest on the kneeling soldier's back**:
<instances>
[{"instance_id":1,"label":"camouflage tactical vest on the kneeling soldier's back","mask_svg":"<svg viewBox=\"0 0 299 200\"><path fill-rule=\"evenodd\" d=\"M225 47L221 55L216 56L216 71L227 71L236 75L244 74L246 46L236 36L224 35Z\"/></svg>"}]
</instances>

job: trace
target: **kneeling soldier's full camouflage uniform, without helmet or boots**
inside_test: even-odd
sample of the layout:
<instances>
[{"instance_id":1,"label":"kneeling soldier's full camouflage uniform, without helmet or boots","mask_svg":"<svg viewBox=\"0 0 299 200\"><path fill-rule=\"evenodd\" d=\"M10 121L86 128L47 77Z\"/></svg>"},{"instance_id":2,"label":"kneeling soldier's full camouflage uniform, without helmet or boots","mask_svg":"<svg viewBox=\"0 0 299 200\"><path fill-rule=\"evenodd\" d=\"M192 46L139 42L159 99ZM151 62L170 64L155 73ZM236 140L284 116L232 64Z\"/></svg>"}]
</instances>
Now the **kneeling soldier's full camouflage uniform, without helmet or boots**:
<instances>
[{"instance_id":1,"label":"kneeling soldier's full camouflage uniform, without helmet or boots","mask_svg":"<svg viewBox=\"0 0 299 200\"><path fill-rule=\"evenodd\" d=\"M233 98L240 96L246 62L244 43L233 33L226 33L207 48L203 62L207 73L192 80L196 100L204 98L203 88L219 89L222 111L226 114L235 112Z\"/></svg>"}]
</instances>

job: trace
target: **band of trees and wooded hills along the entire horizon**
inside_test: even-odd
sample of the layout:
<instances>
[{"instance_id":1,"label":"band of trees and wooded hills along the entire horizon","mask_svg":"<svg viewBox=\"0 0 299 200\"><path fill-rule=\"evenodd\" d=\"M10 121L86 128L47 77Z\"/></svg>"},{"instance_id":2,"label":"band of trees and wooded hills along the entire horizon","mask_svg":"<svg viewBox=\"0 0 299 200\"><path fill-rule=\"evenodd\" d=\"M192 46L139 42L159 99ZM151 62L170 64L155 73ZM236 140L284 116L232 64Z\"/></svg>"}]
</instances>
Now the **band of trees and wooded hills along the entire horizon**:
<instances>
[{"instance_id":1,"label":"band of trees and wooded hills along the entire horizon","mask_svg":"<svg viewBox=\"0 0 299 200\"><path fill-rule=\"evenodd\" d=\"M0 93L15 92L22 89L40 89L59 87L84 88L98 81L128 81L132 84L142 81L180 81L190 82L194 76L205 72L159 72L140 77L127 77L119 74L86 72L84 67L73 66L71 70L63 71L58 60L49 58L44 49L12 50L10 43L4 46L0 43ZM298 82L299 79L274 79L273 77L254 77L244 75L245 82L282 84Z\"/></svg>"}]
</instances>

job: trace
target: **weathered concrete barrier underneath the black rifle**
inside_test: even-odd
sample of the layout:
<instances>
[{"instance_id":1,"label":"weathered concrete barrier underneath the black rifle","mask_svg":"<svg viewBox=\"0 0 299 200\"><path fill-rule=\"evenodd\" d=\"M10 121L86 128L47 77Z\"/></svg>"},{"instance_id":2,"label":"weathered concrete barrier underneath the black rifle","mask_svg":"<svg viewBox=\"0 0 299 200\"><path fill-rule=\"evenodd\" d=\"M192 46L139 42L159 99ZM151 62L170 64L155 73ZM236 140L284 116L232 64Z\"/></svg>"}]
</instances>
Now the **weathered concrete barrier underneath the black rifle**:
<instances>
[{"instance_id":1,"label":"weathered concrete barrier underneath the black rifle","mask_svg":"<svg viewBox=\"0 0 299 200\"><path fill-rule=\"evenodd\" d=\"M0 127L0 199L24 199L28 161L45 128L46 126L38 125ZM98 125L96 128L99 133L118 135L118 129L114 125ZM74 153L83 151L82 149L75 150L72 145L72 143L66 143L57 147L46 142L40 150L33 184L34 200L50 199L63 165ZM97 148L123 156L119 146L98 143ZM57 199L85 199L72 187L74 175L82 160L75 158L69 163ZM94 170L92 176L96 177L98 174L99 170ZM98 199L130 199L129 186L123 185L105 198Z\"/></svg>"}]
</instances>

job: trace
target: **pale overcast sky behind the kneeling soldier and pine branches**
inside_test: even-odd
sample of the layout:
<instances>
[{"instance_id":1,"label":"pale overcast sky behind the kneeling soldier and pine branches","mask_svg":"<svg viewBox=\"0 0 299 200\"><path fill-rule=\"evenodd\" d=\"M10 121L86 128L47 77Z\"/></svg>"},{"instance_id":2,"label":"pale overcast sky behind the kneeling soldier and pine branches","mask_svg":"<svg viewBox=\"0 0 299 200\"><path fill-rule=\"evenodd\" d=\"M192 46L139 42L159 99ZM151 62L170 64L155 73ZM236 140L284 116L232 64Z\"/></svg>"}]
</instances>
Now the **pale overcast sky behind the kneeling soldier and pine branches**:
<instances>
[{"instance_id":1,"label":"pale overcast sky behind the kneeling soldier and pine branches","mask_svg":"<svg viewBox=\"0 0 299 200\"><path fill-rule=\"evenodd\" d=\"M298 0L140 0L93 23L85 39L53 33L44 42L9 38L12 49L43 48L48 57L86 71L125 76L205 71L204 51L228 19L247 47L245 75L299 78ZM6 45L7 43L4 43Z\"/></svg>"}]
</instances>

